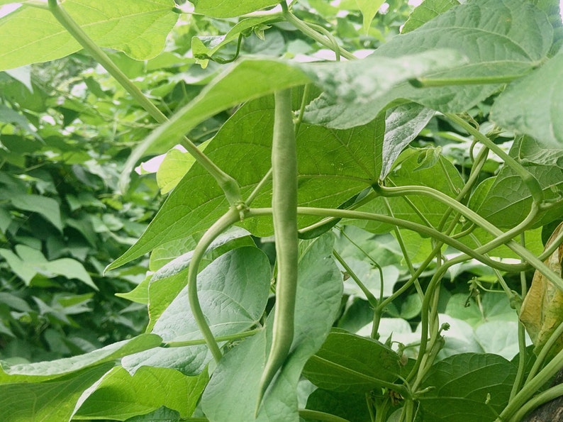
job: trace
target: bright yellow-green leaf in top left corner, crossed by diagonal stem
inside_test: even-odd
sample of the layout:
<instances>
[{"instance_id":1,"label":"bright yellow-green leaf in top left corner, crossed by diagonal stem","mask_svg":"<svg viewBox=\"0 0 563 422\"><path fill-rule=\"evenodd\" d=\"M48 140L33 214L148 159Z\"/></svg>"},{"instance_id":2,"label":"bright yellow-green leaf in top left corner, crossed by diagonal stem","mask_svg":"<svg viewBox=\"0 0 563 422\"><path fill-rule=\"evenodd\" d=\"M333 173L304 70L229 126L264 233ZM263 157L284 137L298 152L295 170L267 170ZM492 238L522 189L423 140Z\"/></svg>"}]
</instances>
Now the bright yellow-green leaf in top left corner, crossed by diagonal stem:
<instances>
[{"instance_id":1,"label":"bright yellow-green leaf in top left corner, crossed by diagonal stem","mask_svg":"<svg viewBox=\"0 0 563 422\"><path fill-rule=\"evenodd\" d=\"M94 43L126 52L136 60L155 57L176 23L172 0L67 0L65 11ZM0 70L46 62L76 52L79 43L47 9L23 6L0 19Z\"/></svg>"}]
</instances>

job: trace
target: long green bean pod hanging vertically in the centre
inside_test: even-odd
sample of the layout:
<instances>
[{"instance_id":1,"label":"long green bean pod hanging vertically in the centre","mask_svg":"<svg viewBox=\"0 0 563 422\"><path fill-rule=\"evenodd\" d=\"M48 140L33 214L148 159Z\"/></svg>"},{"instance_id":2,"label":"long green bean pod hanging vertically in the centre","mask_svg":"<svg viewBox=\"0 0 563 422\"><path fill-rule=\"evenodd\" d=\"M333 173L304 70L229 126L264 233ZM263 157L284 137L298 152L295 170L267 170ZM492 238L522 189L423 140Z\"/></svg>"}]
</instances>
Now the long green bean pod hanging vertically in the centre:
<instances>
[{"instance_id":1,"label":"long green bean pod hanging vertically in the centre","mask_svg":"<svg viewBox=\"0 0 563 422\"><path fill-rule=\"evenodd\" d=\"M284 364L294 338L297 289L297 152L291 89L275 94L272 141L272 216L277 255L276 304L272 346L260 379L256 413L269 384Z\"/></svg>"}]
</instances>

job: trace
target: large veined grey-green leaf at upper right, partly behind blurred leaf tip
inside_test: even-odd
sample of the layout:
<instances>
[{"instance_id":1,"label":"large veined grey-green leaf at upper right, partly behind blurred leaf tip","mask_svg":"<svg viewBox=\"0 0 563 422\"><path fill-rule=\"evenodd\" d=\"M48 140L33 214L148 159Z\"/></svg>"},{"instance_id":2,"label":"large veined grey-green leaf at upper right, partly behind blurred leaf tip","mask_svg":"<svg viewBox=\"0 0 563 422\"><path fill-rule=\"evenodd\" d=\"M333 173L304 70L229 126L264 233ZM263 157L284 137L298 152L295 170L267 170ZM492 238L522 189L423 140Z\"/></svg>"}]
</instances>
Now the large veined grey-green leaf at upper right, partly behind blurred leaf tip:
<instances>
[{"instance_id":1,"label":"large veined grey-green leaf at upper right, partly behind blurred leaf tip","mask_svg":"<svg viewBox=\"0 0 563 422\"><path fill-rule=\"evenodd\" d=\"M408 73L408 69L401 65L400 57L411 66L416 57L435 60L439 66L434 70L420 69L419 76L429 79L506 77L511 80L540 65L550 50L552 40L553 28L547 16L528 1L469 1L381 45L363 60L363 65L342 64L338 84L333 87L325 85L327 92L310 104L306 118L330 127L349 128L371 121L379 110L400 98L438 111L467 111L493 94L500 85L460 84L419 89L405 82L384 95L372 96L369 107L365 104L374 82L390 74ZM437 49L453 52L447 57L440 57ZM459 55L468 60L455 60ZM393 62L392 57L396 57L397 61ZM391 66L381 70L381 76L374 74L369 66L378 61ZM354 72L355 66L362 66L362 69ZM411 77L415 76L416 72L411 72ZM400 81L396 79L396 82Z\"/></svg>"}]
</instances>

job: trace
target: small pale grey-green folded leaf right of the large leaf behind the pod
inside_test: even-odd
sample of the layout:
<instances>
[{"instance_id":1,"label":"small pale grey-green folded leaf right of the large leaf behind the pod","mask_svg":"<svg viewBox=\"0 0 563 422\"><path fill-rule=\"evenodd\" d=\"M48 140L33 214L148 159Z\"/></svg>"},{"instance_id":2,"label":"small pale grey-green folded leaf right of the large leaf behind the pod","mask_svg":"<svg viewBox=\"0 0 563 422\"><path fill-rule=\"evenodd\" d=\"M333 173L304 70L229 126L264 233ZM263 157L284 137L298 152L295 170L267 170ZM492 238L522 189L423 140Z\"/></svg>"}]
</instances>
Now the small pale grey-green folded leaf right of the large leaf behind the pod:
<instances>
[{"instance_id":1,"label":"small pale grey-green folded leaf right of the large leaf behind the pod","mask_svg":"<svg viewBox=\"0 0 563 422\"><path fill-rule=\"evenodd\" d=\"M385 138L383 141L383 165L379 178L385 179L398 155L411 143L430 121L435 111L416 103L403 104L387 110Z\"/></svg>"}]
</instances>

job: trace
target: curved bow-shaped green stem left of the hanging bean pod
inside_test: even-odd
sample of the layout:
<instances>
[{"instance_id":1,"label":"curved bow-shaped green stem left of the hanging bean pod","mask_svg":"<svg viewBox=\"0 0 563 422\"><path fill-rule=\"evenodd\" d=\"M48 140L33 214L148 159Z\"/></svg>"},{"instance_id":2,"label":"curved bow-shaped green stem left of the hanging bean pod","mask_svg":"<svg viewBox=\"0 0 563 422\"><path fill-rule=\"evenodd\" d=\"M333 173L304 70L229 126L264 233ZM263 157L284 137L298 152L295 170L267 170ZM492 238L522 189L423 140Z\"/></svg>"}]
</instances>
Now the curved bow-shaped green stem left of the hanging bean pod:
<instances>
[{"instance_id":1,"label":"curved bow-shaped green stem left of the hanging bean pod","mask_svg":"<svg viewBox=\"0 0 563 422\"><path fill-rule=\"evenodd\" d=\"M232 226L236 223L240 218L240 211L234 207L231 207L229 211L227 211L221 218L219 218L213 226L208 228L208 230L201 236L201 239L197 243L196 248L194 249L194 255L191 257L191 262L189 263L189 270L188 270L188 299L189 299L189 306L191 308L191 313L194 315L194 319L196 321L197 326L199 327L199 331L201 331L201 335L204 336L205 342L211 350L211 354L213 355L213 359L218 362L223 354L219 349L219 345L217 344L217 340L213 337L213 333L211 333L211 328L206 321L204 311L201 309L201 305L199 304L199 297L197 295L197 274L199 271L199 263L201 259L204 257L205 252L211 242L217 238L218 235L223 233L227 228Z\"/></svg>"}]
</instances>

